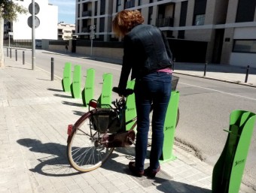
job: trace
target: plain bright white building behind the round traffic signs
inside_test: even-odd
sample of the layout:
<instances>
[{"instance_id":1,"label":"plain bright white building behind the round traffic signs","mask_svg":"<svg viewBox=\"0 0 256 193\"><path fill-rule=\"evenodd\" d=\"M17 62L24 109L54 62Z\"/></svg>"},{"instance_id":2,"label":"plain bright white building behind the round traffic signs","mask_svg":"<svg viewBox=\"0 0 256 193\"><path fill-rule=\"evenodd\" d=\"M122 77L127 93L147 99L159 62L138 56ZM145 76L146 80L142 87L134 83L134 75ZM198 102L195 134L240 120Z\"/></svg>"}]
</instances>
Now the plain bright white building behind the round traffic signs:
<instances>
[{"instance_id":1,"label":"plain bright white building behind the round traffic signs","mask_svg":"<svg viewBox=\"0 0 256 193\"><path fill-rule=\"evenodd\" d=\"M29 10L29 5L32 3L31 0L14 1L18 5L22 5L24 8ZM55 5L48 4L48 0L35 1L39 6L38 17L40 22L39 26L35 28L35 39L51 39L57 40L57 23L58 23L58 7ZM32 14L19 14L17 21L12 23L13 39L15 40L31 40L32 29L28 25L28 18Z\"/></svg>"}]
</instances>

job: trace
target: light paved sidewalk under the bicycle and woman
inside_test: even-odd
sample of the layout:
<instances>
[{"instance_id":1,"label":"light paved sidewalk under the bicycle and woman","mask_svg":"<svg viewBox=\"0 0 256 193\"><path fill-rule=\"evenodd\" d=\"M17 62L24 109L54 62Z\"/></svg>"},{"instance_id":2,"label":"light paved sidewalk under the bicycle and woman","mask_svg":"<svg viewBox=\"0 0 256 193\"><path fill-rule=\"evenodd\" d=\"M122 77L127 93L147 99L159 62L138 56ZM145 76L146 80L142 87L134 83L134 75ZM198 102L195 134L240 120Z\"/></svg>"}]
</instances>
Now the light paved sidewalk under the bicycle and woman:
<instances>
[{"instance_id":1,"label":"light paved sidewalk under the bicycle and woman","mask_svg":"<svg viewBox=\"0 0 256 193\"><path fill-rule=\"evenodd\" d=\"M97 170L73 170L66 157L66 130L87 108L62 92L60 80L30 69L8 57L0 69L0 192L211 192L212 166L178 143L177 158L161 164L155 179L130 175L134 146L116 149ZM240 192L254 191L241 185Z\"/></svg>"}]
</instances>

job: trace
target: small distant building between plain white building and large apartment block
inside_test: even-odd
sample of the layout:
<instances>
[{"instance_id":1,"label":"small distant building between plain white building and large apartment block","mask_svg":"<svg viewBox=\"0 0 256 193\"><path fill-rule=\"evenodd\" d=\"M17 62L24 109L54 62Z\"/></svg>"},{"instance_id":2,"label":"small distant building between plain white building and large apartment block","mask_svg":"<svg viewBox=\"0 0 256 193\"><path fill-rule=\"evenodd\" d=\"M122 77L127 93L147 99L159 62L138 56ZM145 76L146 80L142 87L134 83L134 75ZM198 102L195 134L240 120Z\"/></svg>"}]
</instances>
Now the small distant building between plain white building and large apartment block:
<instances>
[{"instance_id":1,"label":"small distant building between plain white building and large apartment block","mask_svg":"<svg viewBox=\"0 0 256 193\"><path fill-rule=\"evenodd\" d=\"M60 22L58 23L58 40L70 40L76 38L75 25Z\"/></svg>"}]
</instances>

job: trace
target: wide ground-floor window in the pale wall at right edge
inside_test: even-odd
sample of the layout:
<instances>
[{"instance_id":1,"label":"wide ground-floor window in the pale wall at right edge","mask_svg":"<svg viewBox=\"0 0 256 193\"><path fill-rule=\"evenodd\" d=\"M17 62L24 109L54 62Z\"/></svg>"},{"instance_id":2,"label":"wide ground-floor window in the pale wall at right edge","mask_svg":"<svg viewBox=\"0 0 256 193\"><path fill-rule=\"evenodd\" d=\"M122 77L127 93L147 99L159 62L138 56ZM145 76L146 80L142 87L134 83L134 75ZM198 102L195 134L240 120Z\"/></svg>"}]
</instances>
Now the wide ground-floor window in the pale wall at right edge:
<instances>
[{"instance_id":1,"label":"wide ground-floor window in the pale wall at right edge","mask_svg":"<svg viewBox=\"0 0 256 193\"><path fill-rule=\"evenodd\" d=\"M256 53L256 40L235 40L233 53Z\"/></svg>"}]
</instances>

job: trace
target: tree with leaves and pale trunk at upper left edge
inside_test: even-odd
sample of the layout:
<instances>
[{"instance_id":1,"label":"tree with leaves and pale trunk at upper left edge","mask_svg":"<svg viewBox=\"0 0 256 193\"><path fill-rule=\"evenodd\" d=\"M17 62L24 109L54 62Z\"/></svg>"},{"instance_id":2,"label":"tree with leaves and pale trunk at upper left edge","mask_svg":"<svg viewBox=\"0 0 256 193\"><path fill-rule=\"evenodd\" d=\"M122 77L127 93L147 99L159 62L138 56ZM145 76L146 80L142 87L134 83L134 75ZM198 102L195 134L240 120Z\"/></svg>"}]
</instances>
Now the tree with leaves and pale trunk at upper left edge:
<instances>
[{"instance_id":1,"label":"tree with leaves and pale trunk at upper left edge","mask_svg":"<svg viewBox=\"0 0 256 193\"><path fill-rule=\"evenodd\" d=\"M17 14L26 14L27 9L11 0L0 2L0 68L5 67L4 56L4 20L15 21Z\"/></svg>"}]
</instances>

